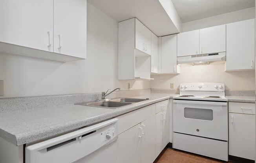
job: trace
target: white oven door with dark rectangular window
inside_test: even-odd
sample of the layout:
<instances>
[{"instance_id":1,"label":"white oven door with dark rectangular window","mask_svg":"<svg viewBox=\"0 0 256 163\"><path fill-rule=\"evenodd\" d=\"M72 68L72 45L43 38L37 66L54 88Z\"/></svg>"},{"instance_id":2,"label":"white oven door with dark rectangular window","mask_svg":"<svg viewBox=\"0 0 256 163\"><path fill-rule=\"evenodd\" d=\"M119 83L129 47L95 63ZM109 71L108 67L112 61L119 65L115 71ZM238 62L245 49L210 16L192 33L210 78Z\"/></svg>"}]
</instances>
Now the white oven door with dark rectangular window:
<instances>
[{"instance_id":1,"label":"white oven door with dark rectangular window","mask_svg":"<svg viewBox=\"0 0 256 163\"><path fill-rule=\"evenodd\" d=\"M227 102L173 100L173 130L227 141Z\"/></svg>"}]
</instances>

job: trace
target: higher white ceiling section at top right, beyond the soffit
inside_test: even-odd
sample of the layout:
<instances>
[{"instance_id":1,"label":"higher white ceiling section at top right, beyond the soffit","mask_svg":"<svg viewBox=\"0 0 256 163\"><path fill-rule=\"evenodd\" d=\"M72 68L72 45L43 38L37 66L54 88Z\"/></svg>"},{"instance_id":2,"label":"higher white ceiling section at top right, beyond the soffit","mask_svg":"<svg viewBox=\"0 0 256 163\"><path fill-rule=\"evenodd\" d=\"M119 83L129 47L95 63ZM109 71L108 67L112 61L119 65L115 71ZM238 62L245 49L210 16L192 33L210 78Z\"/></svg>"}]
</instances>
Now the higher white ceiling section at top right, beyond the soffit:
<instances>
[{"instance_id":1,"label":"higher white ceiling section at top right, beyond the soffit","mask_svg":"<svg viewBox=\"0 0 256 163\"><path fill-rule=\"evenodd\" d=\"M255 6L255 0L172 0L183 23Z\"/></svg>"}]
</instances>

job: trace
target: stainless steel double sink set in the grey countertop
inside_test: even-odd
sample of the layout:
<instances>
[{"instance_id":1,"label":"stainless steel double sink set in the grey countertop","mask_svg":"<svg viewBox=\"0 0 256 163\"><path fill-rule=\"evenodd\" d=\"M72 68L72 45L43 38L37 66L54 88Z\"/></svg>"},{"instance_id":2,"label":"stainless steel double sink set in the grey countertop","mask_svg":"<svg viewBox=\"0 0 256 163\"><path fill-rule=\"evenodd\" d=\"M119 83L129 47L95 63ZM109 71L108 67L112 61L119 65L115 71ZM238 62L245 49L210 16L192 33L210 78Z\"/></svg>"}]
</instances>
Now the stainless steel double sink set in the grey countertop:
<instances>
[{"instance_id":1,"label":"stainless steel double sink set in the grey countertop","mask_svg":"<svg viewBox=\"0 0 256 163\"><path fill-rule=\"evenodd\" d=\"M137 103L145 100L149 100L149 99L148 98L114 98L114 99L104 99L104 100L98 100L98 101L76 103L76 105L117 109L125 105L130 105L132 103Z\"/></svg>"}]
</instances>

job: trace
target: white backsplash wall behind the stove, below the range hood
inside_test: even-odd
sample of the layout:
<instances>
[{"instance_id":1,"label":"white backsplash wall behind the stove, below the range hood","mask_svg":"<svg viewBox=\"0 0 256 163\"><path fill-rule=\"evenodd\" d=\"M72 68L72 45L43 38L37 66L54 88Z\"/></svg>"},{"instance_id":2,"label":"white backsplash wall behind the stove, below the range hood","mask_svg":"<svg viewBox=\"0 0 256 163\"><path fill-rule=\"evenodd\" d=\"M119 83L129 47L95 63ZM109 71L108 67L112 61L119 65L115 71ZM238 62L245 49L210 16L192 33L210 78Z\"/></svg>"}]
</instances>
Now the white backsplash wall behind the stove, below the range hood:
<instances>
[{"instance_id":1,"label":"white backsplash wall behind the stove, below the range hood","mask_svg":"<svg viewBox=\"0 0 256 163\"><path fill-rule=\"evenodd\" d=\"M195 65L181 67L180 74L153 75L152 89L170 89L170 83L174 83L174 89L179 89L181 83L188 82L218 82L224 83L225 89L254 90L255 72L236 71L224 72L224 64Z\"/></svg>"}]
</instances>

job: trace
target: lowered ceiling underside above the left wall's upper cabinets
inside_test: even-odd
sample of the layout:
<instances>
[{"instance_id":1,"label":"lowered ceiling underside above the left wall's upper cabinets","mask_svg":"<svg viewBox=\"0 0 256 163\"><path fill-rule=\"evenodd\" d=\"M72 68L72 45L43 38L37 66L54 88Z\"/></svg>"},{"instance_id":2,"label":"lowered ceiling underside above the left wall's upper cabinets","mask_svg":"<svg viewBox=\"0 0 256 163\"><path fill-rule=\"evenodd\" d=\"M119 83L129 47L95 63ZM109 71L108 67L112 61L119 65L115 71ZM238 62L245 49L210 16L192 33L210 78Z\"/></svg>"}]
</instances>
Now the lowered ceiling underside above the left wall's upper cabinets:
<instances>
[{"instance_id":1,"label":"lowered ceiling underside above the left wall's upper cabinets","mask_svg":"<svg viewBox=\"0 0 256 163\"><path fill-rule=\"evenodd\" d=\"M179 33L159 0L88 0L117 22L138 18L157 36Z\"/></svg>"}]
</instances>

